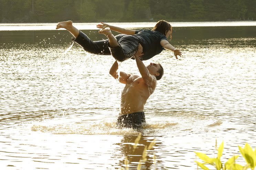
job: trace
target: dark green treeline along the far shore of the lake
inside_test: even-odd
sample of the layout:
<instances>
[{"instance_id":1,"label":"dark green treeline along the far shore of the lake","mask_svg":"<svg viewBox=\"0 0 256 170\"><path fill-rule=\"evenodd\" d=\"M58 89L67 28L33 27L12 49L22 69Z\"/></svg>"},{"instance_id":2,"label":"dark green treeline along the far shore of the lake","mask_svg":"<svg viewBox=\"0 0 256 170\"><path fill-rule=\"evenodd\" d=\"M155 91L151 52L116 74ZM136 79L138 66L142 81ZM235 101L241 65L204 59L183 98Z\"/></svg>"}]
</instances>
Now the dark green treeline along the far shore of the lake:
<instances>
[{"instance_id":1,"label":"dark green treeline along the far shore of the lake","mask_svg":"<svg viewBox=\"0 0 256 170\"><path fill-rule=\"evenodd\" d=\"M256 0L0 0L0 22L256 20Z\"/></svg>"}]
</instances>

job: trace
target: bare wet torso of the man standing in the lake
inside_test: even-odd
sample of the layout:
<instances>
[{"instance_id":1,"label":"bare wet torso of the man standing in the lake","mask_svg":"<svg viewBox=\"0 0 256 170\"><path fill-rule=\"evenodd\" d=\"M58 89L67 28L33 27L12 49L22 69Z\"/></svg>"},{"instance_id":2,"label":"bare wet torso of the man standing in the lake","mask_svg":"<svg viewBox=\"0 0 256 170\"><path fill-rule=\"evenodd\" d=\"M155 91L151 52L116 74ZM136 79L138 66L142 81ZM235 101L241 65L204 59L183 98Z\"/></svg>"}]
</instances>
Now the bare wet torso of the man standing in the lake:
<instances>
[{"instance_id":1,"label":"bare wet torso of the man standing in the lake","mask_svg":"<svg viewBox=\"0 0 256 170\"><path fill-rule=\"evenodd\" d=\"M131 75L122 91L120 115L142 112L149 96L154 92L138 75Z\"/></svg>"}]
</instances>

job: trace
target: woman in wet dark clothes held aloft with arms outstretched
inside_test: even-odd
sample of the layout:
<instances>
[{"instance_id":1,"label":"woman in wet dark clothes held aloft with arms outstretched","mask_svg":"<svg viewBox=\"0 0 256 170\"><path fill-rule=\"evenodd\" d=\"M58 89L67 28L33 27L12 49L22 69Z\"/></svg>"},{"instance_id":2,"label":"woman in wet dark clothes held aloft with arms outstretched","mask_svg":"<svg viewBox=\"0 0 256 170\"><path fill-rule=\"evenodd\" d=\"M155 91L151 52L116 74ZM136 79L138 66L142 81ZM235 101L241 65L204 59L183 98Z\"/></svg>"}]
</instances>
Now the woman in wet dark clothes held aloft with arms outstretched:
<instances>
[{"instance_id":1,"label":"woman in wet dark clothes held aloft with arms outstretched","mask_svg":"<svg viewBox=\"0 0 256 170\"><path fill-rule=\"evenodd\" d=\"M97 27L101 28L99 33L106 35L108 39L92 41L83 32L75 28L72 25L72 21L60 22L57 24L56 29L67 29L67 31L75 36L73 41L82 46L84 50L94 54L111 54L118 61L124 61L134 56L139 44L143 48L141 60L148 60L159 54L163 49L173 51L177 59L177 56L181 56L180 50L175 49L167 40L172 33L172 27L164 20L158 21L152 30L141 29L138 31L115 27L105 23L98 24ZM121 34L114 36L110 30Z\"/></svg>"}]
</instances>

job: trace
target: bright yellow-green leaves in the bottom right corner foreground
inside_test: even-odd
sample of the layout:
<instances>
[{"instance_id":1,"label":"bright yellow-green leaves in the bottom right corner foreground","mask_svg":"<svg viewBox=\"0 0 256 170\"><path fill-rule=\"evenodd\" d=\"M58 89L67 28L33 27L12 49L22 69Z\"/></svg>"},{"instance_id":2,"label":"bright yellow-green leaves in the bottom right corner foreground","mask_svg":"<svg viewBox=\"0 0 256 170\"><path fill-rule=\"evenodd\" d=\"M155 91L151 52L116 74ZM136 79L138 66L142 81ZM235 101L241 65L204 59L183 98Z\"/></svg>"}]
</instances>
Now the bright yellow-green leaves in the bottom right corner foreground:
<instances>
[{"instance_id":1,"label":"bright yellow-green leaves in the bottom right corner foreground","mask_svg":"<svg viewBox=\"0 0 256 170\"><path fill-rule=\"evenodd\" d=\"M195 152L196 156L198 156L203 161L203 163L195 161L196 164L203 170L209 170L209 168L207 168L205 166L207 164L214 166L216 168L216 170L246 170L246 169L248 169L248 167L250 167L250 169L254 170L254 168L256 166L256 148L255 148L255 150L253 150L250 147L250 145L247 143L245 144L244 148L238 146L241 155L244 157L244 159L247 163L246 166L239 165L235 162L236 159L238 158L237 155L231 157L230 159L228 159L226 161L226 163L223 164L221 162L223 148L224 148L224 143L222 142L221 145L219 146L219 148L216 149L218 151L216 158L210 158L203 153Z\"/></svg>"}]
</instances>

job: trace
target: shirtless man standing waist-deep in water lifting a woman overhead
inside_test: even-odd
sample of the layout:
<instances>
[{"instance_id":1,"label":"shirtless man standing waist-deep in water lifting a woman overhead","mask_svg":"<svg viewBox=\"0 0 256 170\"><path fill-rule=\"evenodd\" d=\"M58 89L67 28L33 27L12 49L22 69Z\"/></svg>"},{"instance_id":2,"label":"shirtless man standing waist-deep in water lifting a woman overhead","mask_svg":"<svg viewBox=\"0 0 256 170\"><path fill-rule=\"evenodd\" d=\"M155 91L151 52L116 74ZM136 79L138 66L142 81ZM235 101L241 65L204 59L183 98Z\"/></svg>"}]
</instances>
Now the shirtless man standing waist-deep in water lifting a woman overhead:
<instances>
[{"instance_id":1,"label":"shirtless man standing waist-deep in water lifting a woman overhead","mask_svg":"<svg viewBox=\"0 0 256 170\"><path fill-rule=\"evenodd\" d=\"M144 105L149 96L154 92L157 86L157 80L163 75L163 68L160 64L150 63L147 67L140 60L142 56L142 46L139 45L138 51L134 57L141 74L131 75L120 72L118 77L118 63L112 65L109 74L115 79L119 78L119 82L126 84L121 96L121 110L117 120L120 128L140 128L145 121Z\"/></svg>"}]
</instances>

